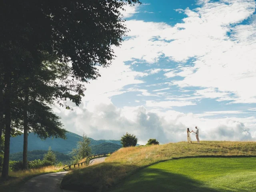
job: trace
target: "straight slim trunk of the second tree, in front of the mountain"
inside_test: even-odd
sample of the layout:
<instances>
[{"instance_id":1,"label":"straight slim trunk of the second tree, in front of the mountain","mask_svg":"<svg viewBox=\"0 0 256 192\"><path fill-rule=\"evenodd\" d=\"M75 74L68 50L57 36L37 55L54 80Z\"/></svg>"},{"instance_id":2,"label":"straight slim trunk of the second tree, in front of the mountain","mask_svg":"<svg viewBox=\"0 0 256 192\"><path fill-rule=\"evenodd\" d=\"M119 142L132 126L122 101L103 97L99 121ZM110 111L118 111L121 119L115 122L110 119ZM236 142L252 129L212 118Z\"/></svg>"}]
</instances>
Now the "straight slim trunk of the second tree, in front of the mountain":
<instances>
[{"instance_id":1,"label":"straight slim trunk of the second tree, in front of the mountain","mask_svg":"<svg viewBox=\"0 0 256 192\"><path fill-rule=\"evenodd\" d=\"M23 168L28 169L28 88L25 89L23 122L24 122Z\"/></svg>"}]
</instances>

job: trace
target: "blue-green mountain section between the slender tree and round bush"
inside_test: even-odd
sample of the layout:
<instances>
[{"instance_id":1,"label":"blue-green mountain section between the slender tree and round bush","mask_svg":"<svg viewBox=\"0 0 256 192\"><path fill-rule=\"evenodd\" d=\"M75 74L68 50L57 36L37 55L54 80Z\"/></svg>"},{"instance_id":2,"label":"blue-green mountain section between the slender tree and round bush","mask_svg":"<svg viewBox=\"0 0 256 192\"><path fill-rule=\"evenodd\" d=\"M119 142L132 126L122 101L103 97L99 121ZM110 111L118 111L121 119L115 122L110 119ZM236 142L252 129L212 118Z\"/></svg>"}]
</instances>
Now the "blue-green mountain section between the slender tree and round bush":
<instances>
[{"instance_id":1,"label":"blue-green mountain section between the slender tree and round bush","mask_svg":"<svg viewBox=\"0 0 256 192\"><path fill-rule=\"evenodd\" d=\"M91 148L92 148L92 154L104 154L104 153L114 152L122 148L122 145L105 142L99 145L93 145L91 146Z\"/></svg>"}]
</instances>

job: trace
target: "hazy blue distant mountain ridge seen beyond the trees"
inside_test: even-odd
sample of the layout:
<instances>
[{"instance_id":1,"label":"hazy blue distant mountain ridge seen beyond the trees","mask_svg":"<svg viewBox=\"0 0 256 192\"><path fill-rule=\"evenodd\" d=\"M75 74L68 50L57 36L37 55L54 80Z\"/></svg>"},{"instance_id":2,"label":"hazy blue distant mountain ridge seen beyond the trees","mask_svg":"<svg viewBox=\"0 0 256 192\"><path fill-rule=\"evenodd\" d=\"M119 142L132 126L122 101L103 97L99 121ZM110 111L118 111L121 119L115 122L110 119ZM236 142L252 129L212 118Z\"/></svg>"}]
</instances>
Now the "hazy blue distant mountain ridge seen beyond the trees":
<instances>
[{"instance_id":1,"label":"hazy blue distant mountain ridge seen beyond the trees","mask_svg":"<svg viewBox=\"0 0 256 192\"><path fill-rule=\"evenodd\" d=\"M64 154L68 154L72 151L72 148L76 148L77 142L82 139L82 136L72 132L66 133L67 139L61 138L47 138L41 140L37 134L30 133L28 135L28 151L32 150L48 150L51 146L53 151L58 151ZM99 145L103 143L113 143L122 145L120 140L94 140L90 138L91 146ZM116 148L116 147L115 147ZM23 135L10 138L10 154L23 151Z\"/></svg>"}]
</instances>

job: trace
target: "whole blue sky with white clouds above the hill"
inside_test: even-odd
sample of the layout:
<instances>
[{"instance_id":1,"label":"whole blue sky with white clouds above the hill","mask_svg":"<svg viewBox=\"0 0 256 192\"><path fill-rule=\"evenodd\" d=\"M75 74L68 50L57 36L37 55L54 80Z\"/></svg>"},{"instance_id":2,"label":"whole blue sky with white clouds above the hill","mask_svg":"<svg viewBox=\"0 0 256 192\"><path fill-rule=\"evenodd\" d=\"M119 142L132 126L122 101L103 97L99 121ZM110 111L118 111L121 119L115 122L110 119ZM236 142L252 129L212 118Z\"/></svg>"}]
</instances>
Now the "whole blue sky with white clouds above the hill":
<instances>
[{"instance_id":1,"label":"whole blue sky with white clouds above the hill","mask_svg":"<svg viewBox=\"0 0 256 192\"><path fill-rule=\"evenodd\" d=\"M66 130L138 144L256 140L256 2L141 0L122 12L130 29L79 107L54 106ZM196 141L192 134L192 141Z\"/></svg>"}]
</instances>

